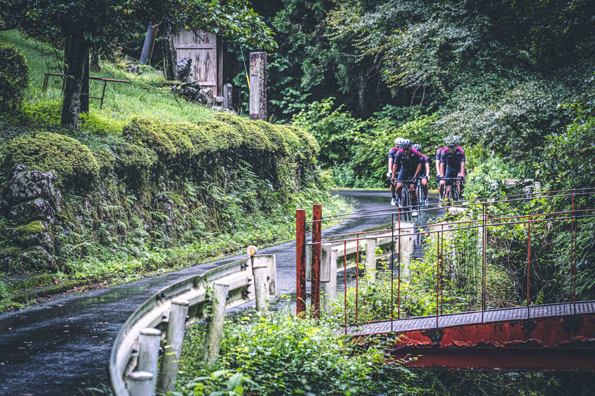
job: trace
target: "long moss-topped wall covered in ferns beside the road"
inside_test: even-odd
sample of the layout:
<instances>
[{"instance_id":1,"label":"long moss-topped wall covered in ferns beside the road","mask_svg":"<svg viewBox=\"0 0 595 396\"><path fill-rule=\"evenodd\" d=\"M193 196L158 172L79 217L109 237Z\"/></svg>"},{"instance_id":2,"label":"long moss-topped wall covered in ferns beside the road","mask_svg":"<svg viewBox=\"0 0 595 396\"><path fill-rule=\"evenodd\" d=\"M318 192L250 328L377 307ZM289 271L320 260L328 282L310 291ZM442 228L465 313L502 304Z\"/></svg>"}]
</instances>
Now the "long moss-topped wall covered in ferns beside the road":
<instances>
[{"instance_id":1,"label":"long moss-topped wall covered in ferns beside the road","mask_svg":"<svg viewBox=\"0 0 595 396\"><path fill-rule=\"evenodd\" d=\"M92 254L98 245L134 255L141 245L233 232L242 216L273 213L305 186L317 185L318 150L300 129L230 113L199 123L137 118L118 137L20 135L8 142L2 172L24 164L56 176L63 199L51 253L59 263L75 250ZM23 230L31 224L16 220L14 243L27 237Z\"/></svg>"}]
</instances>

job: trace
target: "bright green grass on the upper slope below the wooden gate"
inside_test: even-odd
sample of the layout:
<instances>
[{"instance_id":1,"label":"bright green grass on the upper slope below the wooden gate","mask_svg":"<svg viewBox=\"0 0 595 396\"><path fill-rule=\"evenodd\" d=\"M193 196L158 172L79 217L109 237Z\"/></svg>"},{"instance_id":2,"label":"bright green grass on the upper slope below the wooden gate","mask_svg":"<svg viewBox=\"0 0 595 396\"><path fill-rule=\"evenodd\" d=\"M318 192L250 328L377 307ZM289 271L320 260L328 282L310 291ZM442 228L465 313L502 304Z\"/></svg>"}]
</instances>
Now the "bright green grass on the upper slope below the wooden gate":
<instances>
[{"instance_id":1,"label":"bright green grass on the upper slope below the wooden gate","mask_svg":"<svg viewBox=\"0 0 595 396\"><path fill-rule=\"evenodd\" d=\"M17 46L29 63L30 84L27 100L30 103L37 105L46 100L55 102L62 99L60 77L50 77L49 88L42 96L43 73L60 72L57 55L62 58L61 51L26 39L14 30L0 31L0 41ZM168 87L161 87L165 81L161 71L151 66L142 66L143 73L136 75L126 72L123 62L123 59L117 59L115 63L103 61L101 71L90 73L104 78L131 81L131 84L108 83L102 110L99 110L98 99L90 99L92 115L119 122L129 121L134 116L162 122L196 122L211 119L214 115L213 110L201 104L185 102L182 99L177 103L173 94L167 91ZM101 96L100 81L91 81L89 88L91 96Z\"/></svg>"}]
</instances>

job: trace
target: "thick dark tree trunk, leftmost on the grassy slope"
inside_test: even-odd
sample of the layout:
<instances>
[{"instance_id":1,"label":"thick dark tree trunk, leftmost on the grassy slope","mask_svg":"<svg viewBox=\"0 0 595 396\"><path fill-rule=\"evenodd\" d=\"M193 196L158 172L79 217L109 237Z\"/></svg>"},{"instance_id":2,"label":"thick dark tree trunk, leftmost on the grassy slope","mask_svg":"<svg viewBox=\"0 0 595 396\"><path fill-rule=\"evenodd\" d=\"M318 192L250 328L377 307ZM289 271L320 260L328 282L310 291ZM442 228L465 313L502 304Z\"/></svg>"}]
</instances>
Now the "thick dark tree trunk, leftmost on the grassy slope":
<instances>
[{"instance_id":1,"label":"thick dark tree trunk, leftmost on the grassy slope","mask_svg":"<svg viewBox=\"0 0 595 396\"><path fill-rule=\"evenodd\" d=\"M83 85L85 57L89 55L82 34L71 33L65 37L64 60L68 65L62 115L60 123L65 128L79 129L80 90Z\"/></svg>"}]
</instances>

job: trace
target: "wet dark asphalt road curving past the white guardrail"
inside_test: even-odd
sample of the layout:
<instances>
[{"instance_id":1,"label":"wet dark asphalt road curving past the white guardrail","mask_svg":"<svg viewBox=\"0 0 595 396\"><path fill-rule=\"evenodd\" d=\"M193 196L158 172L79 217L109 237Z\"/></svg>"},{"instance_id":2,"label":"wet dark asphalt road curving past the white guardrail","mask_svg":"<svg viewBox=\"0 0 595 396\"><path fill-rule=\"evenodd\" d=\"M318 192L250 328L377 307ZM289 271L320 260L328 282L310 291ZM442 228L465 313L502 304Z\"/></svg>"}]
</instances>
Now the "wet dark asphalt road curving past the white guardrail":
<instances>
[{"instance_id":1,"label":"wet dark asphalt road curving past the white guardrail","mask_svg":"<svg viewBox=\"0 0 595 396\"><path fill-rule=\"evenodd\" d=\"M358 211L390 208L388 191L337 191L337 194L355 199ZM430 216L437 216L437 212ZM323 235L383 223L390 223L390 216L353 218L324 230ZM276 255L278 296L287 294L295 300L295 241L270 246L259 254ZM1 314L0 395L90 394L83 389L108 384L112 343L131 313L163 287L242 256L229 256L133 283L49 300L32 309ZM246 303L236 309L249 306L250 303Z\"/></svg>"}]
</instances>

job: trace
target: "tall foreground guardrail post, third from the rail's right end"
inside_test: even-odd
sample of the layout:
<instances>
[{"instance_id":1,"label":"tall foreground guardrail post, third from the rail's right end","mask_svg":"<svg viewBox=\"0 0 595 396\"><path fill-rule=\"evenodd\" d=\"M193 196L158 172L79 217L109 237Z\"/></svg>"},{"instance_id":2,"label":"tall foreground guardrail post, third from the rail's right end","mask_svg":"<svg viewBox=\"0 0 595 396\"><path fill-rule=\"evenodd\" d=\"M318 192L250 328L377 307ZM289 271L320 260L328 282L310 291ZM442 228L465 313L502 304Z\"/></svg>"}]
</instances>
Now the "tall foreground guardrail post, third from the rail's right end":
<instances>
[{"instance_id":1,"label":"tall foreground guardrail post, third from the rail's right end","mask_svg":"<svg viewBox=\"0 0 595 396\"><path fill-rule=\"evenodd\" d=\"M171 300L170 321L167 324L165 348L159 370L159 389L166 394L173 391L176 385L188 305L189 302L184 299Z\"/></svg>"}]
</instances>

